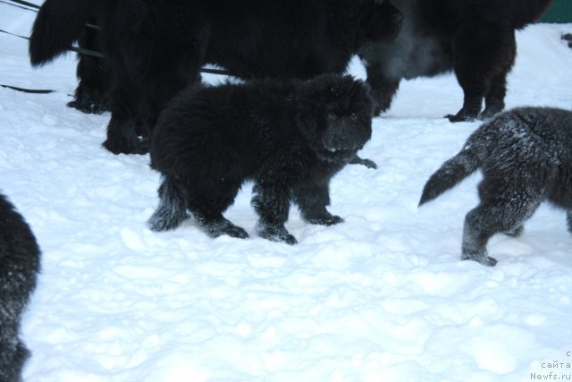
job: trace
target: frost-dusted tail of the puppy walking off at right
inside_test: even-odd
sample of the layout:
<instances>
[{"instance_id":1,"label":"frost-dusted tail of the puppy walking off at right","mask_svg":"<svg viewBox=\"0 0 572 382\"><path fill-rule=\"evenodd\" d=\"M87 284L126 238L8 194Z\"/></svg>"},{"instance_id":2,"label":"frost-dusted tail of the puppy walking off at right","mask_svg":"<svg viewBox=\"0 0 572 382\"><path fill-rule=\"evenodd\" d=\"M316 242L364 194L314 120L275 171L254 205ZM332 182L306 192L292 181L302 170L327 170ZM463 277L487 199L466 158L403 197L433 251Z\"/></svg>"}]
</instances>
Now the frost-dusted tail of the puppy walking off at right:
<instances>
[{"instance_id":1,"label":"frost-dusted tail of the puppy walking off at right","mask_svg":"<svg viewBox=\"0 0 572 382\"><path fill-rule=\"evenodd\" d=\"M455 157L451 157L431 175L423 188L419 206L461 183L468 175L475 173L480 166L481 161L471 147L466 145Z\"/></svg>"}]
</instances>

